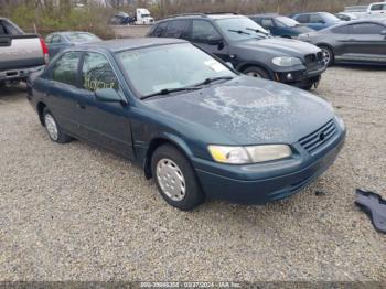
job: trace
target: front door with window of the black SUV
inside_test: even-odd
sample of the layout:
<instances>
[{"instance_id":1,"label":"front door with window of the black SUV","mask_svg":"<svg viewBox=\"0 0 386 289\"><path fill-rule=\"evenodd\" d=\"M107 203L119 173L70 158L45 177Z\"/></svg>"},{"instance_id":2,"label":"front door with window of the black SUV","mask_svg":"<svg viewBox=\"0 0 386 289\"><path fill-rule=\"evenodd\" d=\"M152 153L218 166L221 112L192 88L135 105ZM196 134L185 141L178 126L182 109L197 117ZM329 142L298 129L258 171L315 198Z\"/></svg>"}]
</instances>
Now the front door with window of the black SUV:
<instances>
[{"instance_id":1,"label":"front door with window of the black SUV","mask_svg":"<svg viewBox=\"0 0 386 289\"><path fill-rule=\"evenodd\" d=\"M223 61L229 61L229 49L223 36L210 21L193 20L192 42Z\"/></svg>"}]
</instances>

